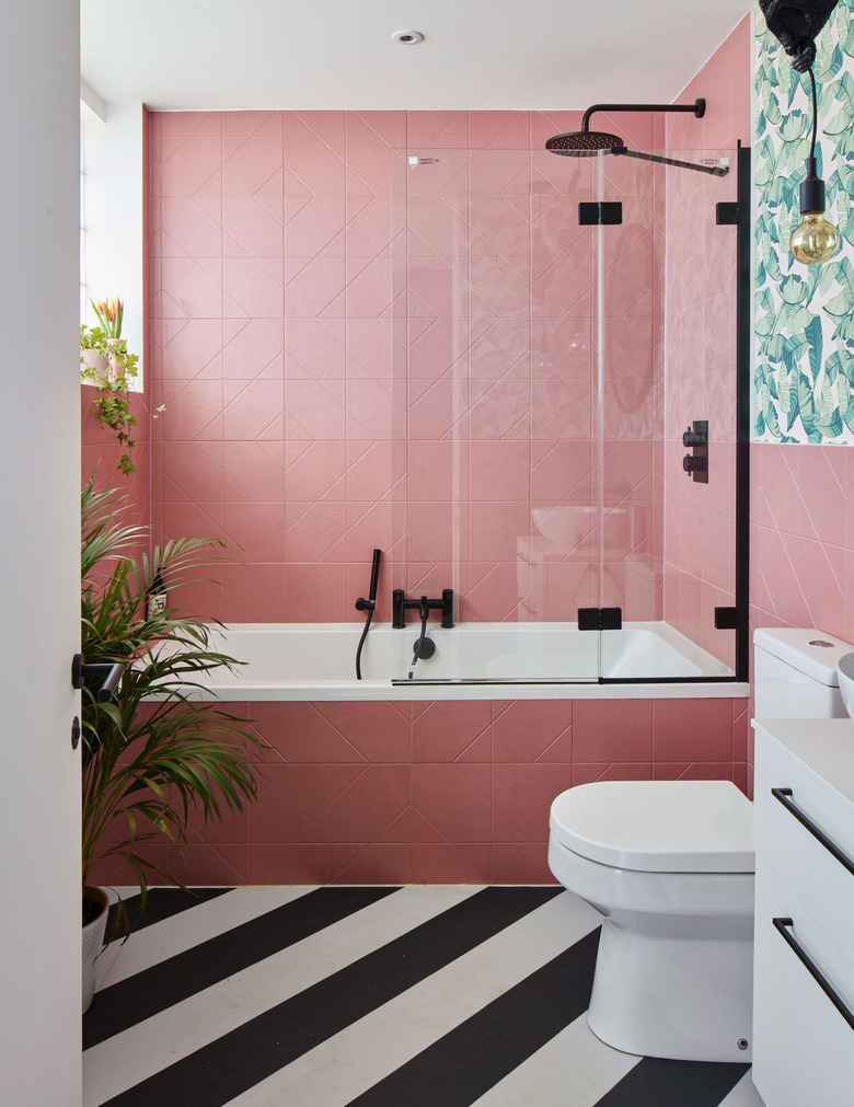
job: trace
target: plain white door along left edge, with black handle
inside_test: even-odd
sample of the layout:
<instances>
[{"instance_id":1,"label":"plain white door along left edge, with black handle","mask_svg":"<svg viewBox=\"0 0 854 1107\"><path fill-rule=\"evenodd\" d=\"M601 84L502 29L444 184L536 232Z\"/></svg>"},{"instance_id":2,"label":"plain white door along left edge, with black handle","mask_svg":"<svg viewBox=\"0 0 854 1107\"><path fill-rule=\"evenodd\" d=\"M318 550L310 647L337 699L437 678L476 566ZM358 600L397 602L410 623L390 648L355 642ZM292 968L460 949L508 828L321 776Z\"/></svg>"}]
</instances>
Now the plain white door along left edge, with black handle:
<instances>
[{"instance_id":1,"label":"plain white door along left edge, with black handle","mask_svg":"<svg viewBox=\"0 0 854 1107\"><path fill-rule=\"evenodd\" d=\"M77 0L4 0L0 1101L81 1101Z\"/></svg>"}]
</instances>

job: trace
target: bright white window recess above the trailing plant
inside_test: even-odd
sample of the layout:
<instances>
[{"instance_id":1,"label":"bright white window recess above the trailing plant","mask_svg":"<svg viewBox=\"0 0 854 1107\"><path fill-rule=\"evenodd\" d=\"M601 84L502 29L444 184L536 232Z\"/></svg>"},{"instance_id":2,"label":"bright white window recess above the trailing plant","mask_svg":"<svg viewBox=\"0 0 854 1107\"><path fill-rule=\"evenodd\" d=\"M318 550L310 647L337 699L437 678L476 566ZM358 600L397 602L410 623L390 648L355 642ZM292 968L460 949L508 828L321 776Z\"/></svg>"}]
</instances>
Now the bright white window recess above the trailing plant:
<instances>
[{"instance_id":1,"label":"bright white window recess above the trailing plant","mask_svg":"<svg viewBox=\"0 0 854 1107\"><path fill-rule=\"evenodd\" d=\"M127 349L143 364L143 105L106 104L83 122L84 271L93 300L124 300ZM82 322L93 325L90 307Z\"/></svg>"}]
</instances>

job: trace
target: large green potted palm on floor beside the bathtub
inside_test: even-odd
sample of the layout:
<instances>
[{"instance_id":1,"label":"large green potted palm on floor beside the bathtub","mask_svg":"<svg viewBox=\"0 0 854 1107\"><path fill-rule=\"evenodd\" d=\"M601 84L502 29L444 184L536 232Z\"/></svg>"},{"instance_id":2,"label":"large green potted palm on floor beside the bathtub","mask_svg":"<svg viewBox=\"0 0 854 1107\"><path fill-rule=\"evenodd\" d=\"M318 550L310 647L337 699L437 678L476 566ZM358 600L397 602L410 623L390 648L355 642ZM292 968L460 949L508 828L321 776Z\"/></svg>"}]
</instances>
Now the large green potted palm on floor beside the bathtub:
<instances>
[{"instance_id":1,"label":"large green potted palm on floor beside the bathtub","mask_svg":"<svg viewBox=\"0 0 854 1107\"><path fill-rule=\"evenodd\" d=\"M164 583L173 597L197 579L214 542L177 539L149 556L147 528L126 521L125 494L96 490L93 480L81 508L82 651L87 665L126 666L107 702L97 699L100 681L83 687L83 922L93 959L84 963L85 1011L106 924L106 894L90 884L95 861L128 862L143 907L149 878L180 887L145 844L186 848L194 811L208 820L242 810L257 794L252 755L263 745L235 715L192 699L200 675L239 663L211 649L210 625L147 602Z\"/></svg>"}]
</instances>

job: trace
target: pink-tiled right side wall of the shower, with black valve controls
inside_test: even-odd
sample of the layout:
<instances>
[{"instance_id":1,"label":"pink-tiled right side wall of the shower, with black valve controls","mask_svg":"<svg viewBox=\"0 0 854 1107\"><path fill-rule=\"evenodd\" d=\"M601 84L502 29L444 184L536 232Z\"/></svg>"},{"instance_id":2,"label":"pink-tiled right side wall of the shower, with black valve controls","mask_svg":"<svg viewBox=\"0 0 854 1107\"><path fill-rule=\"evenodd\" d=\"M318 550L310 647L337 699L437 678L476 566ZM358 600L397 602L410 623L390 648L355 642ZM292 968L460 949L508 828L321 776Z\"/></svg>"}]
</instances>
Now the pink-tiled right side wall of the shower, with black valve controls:
<instances>
[{"instance_id":1,"label":"pink-tiled right side wall of the shower, with black valve controls","mask_svg":"<svg viewBox=\"0 0 854 1107\"><path fill-rule=\"evenodd\" d=\"M673 153L726 153L750 144L750 18L746 17L677 97L706 97L702 120L667 121ZM715 206L736 197L735 173L718 178L673 170L667 183L667 423L664 445L664 612L668 623L729 665L731 631L714 610L735 602L735 227L715 225ZM709 421L709 483L683 470L681 434Z\"/></svg>"}]
</instances>

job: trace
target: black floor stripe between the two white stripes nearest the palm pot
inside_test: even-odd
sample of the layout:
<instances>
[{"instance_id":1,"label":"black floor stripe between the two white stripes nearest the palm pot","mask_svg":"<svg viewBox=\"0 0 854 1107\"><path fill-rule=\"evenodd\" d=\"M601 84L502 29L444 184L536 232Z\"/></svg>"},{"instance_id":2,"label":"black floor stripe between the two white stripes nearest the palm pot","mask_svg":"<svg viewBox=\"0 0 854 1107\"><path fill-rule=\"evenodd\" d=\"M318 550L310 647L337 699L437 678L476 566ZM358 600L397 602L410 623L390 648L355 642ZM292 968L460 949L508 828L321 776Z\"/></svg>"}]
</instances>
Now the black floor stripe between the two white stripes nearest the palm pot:
<instances>
[{"instance_id":1,"label":"black floor stripe between the two white stripes nearest the palm pot","mask_svg":"<svg viewBox=\"0 0 854 1107\"><path fill-rule=\"evenodd\" d=\"M102 989L83 1018L83 1048L126 1031L395 891L397 888L386 887L319 888Z\"/></svg>"}]
</instances>

